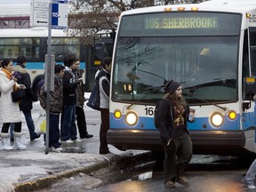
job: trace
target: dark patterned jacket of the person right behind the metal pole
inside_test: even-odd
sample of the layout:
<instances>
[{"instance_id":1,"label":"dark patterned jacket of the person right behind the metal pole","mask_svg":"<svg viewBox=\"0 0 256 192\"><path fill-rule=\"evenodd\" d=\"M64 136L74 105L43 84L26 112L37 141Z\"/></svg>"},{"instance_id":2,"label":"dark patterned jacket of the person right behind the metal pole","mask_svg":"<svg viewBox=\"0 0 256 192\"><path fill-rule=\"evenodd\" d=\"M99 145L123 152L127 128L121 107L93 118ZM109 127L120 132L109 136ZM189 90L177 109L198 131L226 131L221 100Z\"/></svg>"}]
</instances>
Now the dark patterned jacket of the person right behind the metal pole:
<instances>
[{"instance_id":1,"label":"dark patterned jacket of the person right behind the metal pole","mask_svg":"<svg viewBox=\"0 0 256 192\"><path fill-rule=\"evenodd\" d=\"M39 92L40 105L44 110L46 109L46 92L44 91L44 85ZM63 87L62 79L60 76L54 76L54 91L50 92L50 112L61 113L63 107Z\"/></svg>"}]
</instances>

